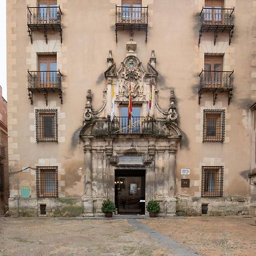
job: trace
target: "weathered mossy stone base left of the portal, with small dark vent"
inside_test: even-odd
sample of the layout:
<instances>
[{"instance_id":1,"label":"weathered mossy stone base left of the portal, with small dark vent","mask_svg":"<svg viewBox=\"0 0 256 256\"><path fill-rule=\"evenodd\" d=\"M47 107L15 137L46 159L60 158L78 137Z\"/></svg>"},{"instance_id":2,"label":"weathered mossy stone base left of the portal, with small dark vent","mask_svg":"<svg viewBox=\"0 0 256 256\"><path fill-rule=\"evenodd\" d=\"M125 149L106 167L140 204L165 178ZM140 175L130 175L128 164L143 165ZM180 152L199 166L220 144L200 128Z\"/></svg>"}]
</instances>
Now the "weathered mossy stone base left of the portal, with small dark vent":
<instances>
[{"instance_id":1,"label":"weathered mossy stone base left of the portal, with small dark vent","mask_svg":"<svg viewBox=\"0 0 256 256\"><path fill-rule=\"evenodd\" d=\"M84 205L81 198L30 198L9 199L9 211L11 216L37 217L40 214L40 205L46 205L47 217L75 217L82 216Z\"/></svg>"}]
</instances>

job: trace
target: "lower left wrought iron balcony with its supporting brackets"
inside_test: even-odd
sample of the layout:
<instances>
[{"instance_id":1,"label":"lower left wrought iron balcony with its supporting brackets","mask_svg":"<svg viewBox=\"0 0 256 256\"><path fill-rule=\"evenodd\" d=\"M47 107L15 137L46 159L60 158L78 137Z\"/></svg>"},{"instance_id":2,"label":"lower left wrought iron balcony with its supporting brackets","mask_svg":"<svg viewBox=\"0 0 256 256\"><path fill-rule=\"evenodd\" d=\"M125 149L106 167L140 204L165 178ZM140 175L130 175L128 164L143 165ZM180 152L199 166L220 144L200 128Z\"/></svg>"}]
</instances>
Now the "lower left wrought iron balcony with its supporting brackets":
<instances>
[{"instance_id":1,"label":"lower left wrought iron balcony with its supporting brackets","mask_svg":"<svg viewBox=\"0 0 256 256\"><path fill-rule=\"evenodd\" d=\"M48 92L59 92L61 104L62 87L61 80L62 74L60 71L27 71L28 72L28 96L31 104L33 104L33 92L43 92L46 99L46 105L48 103Z\"/></svg>"}]
</instances>

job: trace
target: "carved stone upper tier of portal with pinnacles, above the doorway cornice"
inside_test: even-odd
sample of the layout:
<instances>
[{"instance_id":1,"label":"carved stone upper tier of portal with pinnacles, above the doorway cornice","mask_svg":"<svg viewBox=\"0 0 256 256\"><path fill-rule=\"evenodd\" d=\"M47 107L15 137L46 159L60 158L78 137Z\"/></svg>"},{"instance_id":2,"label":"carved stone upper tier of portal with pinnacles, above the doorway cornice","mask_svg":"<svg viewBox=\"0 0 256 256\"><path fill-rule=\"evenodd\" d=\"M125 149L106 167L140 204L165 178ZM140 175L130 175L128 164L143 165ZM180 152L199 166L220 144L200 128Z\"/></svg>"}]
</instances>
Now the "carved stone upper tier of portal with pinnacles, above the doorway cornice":
<instances>
[{"instance_id":1,"label":"carved stone upper tier of portal with pinnacles, above the doorway cornice","mask_svg":"<svg viewBox=\"0 0 256 256\"><path fill-rule=\"evenodd\" d=\"M93 109L93 94L88 90L84 127L80 137L106 138L108 136L143 135L143 137L156 136L179 139L181 133L177 127L178 114L173 89L171 89L168 109L164 110L159 105L155 51L151 52L147 69L144 69L137 57L136 42L131 39L127 42L126 48L126 57L118 69L116 69L112 51L109 51L108 69L105 71L107 87L104 90L104 101L99 110ZM139 117L133 117L137 119L131 119L131 126L126 127L128 115L123 116L121 109L127 108L130 91L131 101L137 109L140 109L140 114ZM110 118L113 109L114 115Z\"/></svg>"}]
</instances>

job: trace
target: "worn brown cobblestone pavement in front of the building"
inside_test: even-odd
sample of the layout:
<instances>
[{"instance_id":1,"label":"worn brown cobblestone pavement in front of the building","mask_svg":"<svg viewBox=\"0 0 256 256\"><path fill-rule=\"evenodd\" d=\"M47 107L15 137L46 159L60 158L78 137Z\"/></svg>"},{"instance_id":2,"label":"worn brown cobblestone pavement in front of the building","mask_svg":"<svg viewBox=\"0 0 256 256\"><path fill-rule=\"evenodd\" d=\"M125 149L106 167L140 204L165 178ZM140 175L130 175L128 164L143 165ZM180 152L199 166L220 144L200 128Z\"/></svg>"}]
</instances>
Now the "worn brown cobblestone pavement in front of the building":
<instances>
[{"instance_id":1,"label":"worn brown cobblestone pavement in front of the building","mask_svg":"<svg viewBox=\"0 0 256 256\"><path fill-rule=\"evenodd\" d=\"M146 225L132 225L136 222ZM255 218L242 216L154 218L130 222L122 219L0 217L0 255L184 255L173 250L171 242L170 246L164 246L158 239L162 237L165 241L171 238L178 242L177 246L185 245L201 255L255 256L254 223ZM144 232L142 226L156 232Z\"/></svg>"}]
</instances>

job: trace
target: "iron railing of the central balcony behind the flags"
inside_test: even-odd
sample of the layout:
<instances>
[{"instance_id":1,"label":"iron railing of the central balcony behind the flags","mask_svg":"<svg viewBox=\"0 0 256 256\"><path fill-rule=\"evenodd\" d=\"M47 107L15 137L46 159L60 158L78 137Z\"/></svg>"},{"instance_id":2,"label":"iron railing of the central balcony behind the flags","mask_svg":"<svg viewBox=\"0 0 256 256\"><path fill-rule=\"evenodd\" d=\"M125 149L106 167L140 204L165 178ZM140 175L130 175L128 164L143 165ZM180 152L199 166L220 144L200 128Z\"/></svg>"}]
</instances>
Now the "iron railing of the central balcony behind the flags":
<instances>
[{"instance_id":1,"label":"iron railing of the central balcony behind the flags","mask_svg":"<svg viewBox=\"0 0 256 256\"><path fill-rule=\"evenodd\" d=\"M115 134L148 134L154 131L155 119L151 117L114 117L109 118L109 131Z\"/></svg>"}]
</instances>

